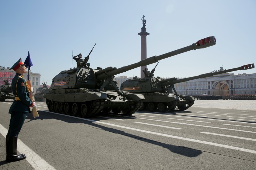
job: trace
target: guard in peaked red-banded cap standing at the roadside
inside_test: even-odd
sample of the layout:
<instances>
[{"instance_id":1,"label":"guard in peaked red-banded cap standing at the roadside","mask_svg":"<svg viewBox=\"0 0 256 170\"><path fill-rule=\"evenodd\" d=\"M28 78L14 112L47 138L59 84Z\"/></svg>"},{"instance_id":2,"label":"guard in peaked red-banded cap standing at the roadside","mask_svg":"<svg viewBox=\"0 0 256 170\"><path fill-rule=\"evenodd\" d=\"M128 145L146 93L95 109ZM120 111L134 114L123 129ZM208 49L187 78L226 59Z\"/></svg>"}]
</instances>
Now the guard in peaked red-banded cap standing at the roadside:
<instances>
[{"instance_id":1,"label":"guard in peaked red-banded cap standing at the roadside","mask_svg":"<svg viewBox=\"0 0 256 170\"><path fill-rule=\"evenodd\" d=\"M29 107L36 107L35 102L30 99L30 88L23 73L26 73L26 66L21 58L10 68L16 72L12 79L12 91L15 96L14 102L10 106L10 125L6 135L6 162L13 162L26 159L25 154L17 154L18 134L25 121L26 114L30 113Z\"/></svg>"}]
</instances>

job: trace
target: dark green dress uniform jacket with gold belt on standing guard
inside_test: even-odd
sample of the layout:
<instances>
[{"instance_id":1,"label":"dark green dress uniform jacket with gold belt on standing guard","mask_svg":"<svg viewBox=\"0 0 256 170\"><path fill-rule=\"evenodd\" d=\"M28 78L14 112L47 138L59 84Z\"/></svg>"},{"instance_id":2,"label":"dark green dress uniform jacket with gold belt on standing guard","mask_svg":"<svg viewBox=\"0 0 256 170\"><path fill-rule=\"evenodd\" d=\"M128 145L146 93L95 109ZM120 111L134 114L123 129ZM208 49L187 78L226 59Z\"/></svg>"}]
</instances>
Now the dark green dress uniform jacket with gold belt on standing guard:
<instances>
[{"instance_id":1,"label":"dark green dress uniform jacket with gold belt on standing guard","mask_svg":"<svg viewBox=\"0 0 256 170\"><path fill-rule=\"evenodd\" d=\"M12 91L15 96L15 100L10 106L9 113L30 113L29 107L33 105L33 101L29 97L30 90L23 75L16 73L16 75L12 79Z\"/></svg>"}]
</instances>

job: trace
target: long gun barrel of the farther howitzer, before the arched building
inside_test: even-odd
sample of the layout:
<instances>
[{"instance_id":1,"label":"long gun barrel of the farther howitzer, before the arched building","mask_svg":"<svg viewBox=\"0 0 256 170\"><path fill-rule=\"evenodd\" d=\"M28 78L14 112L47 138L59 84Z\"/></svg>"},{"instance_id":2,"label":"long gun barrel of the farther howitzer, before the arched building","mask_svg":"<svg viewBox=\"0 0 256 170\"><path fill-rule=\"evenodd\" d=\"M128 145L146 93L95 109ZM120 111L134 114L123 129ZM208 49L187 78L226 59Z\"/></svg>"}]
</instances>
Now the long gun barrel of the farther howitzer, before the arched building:
<instances>
[{"instance_id":1,"label":"long gun barrel of the farther howitzer, before the arched building","mask_svg":"<svg viewBox=\"0 0 256 170\"><path fill-rule=\"evenodd\" d=\"M254 64L246 64L246 65L243 65L238 68L231 68L228 70L205 73L205 74L188 77L188 78L184 78L184 79L173 80L174 78L170 78L170 79L161 80L160 82L161 82L161 86L167 86L169 84L176 84L176 83L186 82L186 81L194 80L194 79L202 79L202 78L210 77L210 76L217 75L217 74L227 73L227 72L231 72L231 71L238 71L238 70L247 70L247 69L251 69L251 68L254 68Z\"/></svg>"}]
</instances>

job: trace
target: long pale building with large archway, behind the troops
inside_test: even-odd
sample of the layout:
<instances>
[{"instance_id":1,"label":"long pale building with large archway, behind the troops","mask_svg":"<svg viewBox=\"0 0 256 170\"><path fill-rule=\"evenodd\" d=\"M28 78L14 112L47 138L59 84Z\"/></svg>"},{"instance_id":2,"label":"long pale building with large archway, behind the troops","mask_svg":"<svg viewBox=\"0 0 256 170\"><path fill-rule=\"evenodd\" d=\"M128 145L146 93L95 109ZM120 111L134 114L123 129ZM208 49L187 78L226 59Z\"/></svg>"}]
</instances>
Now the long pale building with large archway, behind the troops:
<instances>
[{"instance_id":1,"label":"long pale building with large archway, behind the troops","mask_svg":"<svg viewBox=\"0 0 256 170\"><path fill-rule=\"evenodd\" d=\"M181 95L238 95L256 94L256 73L223 73L174 85Z\"/></svg>"}]
</instances>

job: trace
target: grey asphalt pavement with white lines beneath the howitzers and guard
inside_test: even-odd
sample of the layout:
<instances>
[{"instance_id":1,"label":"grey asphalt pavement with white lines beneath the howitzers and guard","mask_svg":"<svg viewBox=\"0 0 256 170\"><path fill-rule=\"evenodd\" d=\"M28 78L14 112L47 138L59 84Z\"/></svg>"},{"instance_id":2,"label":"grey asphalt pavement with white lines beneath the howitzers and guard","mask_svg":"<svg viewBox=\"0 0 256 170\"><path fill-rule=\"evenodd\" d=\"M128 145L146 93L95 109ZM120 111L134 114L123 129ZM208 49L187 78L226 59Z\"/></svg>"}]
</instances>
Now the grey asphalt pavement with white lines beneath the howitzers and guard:
<instances>
[{"instance_id":1,"label":"grey asphalt pavement with white lines beneath the howitzers and guard","mask_svg":"<svg viewBox=\"0 0 256 170\"><path fill-rule=\"evenodd\" d=\"M185 111L78 118L37 102L6 163L12 101L0 102L0 169L255 169L256 101L196 100Z\"/></svg>"}]
</instances>

